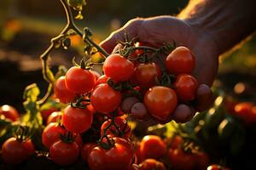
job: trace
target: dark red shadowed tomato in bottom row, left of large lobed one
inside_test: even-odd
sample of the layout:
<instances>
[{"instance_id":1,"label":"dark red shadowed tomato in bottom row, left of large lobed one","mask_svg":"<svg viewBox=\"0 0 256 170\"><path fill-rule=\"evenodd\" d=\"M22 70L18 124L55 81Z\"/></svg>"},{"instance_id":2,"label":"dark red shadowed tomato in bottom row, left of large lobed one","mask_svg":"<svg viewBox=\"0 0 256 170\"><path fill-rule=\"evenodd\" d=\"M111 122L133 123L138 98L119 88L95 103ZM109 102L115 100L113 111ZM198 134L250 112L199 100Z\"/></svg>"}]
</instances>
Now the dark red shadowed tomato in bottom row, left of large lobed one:
<instances>
[{"instance_id":1,"label":"dark red shadowed tomato in bottom row, left of large lobed one","mask_svg":"<svg viewBox=\"0 0 256 170\"><path fill-rule=\"evenodd\" d=\"M49 148L49 156L56 164L67 166L79 158L79 145L75 142L65 143L61 140Z\"/></svg>"}]
</instances>

